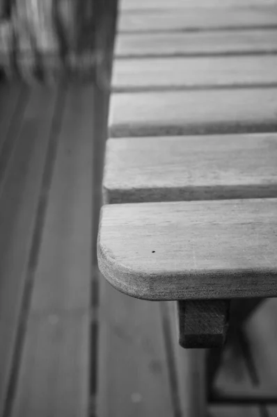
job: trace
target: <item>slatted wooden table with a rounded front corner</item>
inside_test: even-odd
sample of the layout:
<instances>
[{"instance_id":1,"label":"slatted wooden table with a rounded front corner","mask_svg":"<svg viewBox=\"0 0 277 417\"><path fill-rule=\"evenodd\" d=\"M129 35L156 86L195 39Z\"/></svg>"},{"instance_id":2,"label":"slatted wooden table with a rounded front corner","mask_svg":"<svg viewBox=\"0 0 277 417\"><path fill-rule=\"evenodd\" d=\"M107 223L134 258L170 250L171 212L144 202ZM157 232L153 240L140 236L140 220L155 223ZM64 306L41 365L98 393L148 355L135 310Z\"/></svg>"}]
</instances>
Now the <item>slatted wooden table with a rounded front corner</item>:
<instances>
[{"instance_id":1,"label":"slatted wooden table with a rounded front corner","mask_svg":"<svg viewBox=\"0 0 277 417\"><path fill-rule=\"evenodd\" d=\"M276 3L121 3L99 265L128 295L178 300L185 347L223 343L231 299L255 298L246 319L276 297L277 33L243 23L259 8Z\"/></svg>"}]
</instances>

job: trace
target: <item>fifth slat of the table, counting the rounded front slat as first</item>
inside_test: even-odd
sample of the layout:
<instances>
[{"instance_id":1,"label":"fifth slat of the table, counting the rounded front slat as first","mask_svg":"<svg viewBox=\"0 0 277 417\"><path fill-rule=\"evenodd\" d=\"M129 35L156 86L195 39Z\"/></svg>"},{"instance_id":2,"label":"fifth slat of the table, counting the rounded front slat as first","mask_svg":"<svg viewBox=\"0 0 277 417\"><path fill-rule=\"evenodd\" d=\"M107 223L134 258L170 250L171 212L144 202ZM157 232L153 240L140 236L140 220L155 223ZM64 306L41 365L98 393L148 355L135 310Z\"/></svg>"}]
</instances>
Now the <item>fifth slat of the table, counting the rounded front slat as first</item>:
<instances>
[{"instance_id":1,"label":"fifth slat of the table, counting the rounded front slat as first","mask_svg":"<svg viewBox=\"0 0 277 417\"><path fill-rule=\"evenodd\" d=\"M116 58L276 54L277 29L120 33ZM260 57L262 59L262 57Z\"/></svg>"}]
</instances>

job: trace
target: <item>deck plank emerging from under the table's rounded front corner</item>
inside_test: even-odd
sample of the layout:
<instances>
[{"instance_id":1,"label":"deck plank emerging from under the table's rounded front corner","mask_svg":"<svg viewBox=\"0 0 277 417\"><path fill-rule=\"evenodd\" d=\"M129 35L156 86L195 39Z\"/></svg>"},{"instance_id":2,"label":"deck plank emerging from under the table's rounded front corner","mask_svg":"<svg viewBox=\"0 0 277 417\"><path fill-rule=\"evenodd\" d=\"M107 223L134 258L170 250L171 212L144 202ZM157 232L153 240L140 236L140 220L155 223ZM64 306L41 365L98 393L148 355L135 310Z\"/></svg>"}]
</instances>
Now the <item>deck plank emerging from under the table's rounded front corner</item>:
<instances>
[{"instance_id":1,"label":"deck plank emerging from under the table's rounded front corner","mask_svg":"<svg viewBox=\"0 0 277 417\"><path fill-rule=\"evenodd\" d=\"M101 277L97 416L173 416L159 303Z\"/></svg>"}]
</instances>

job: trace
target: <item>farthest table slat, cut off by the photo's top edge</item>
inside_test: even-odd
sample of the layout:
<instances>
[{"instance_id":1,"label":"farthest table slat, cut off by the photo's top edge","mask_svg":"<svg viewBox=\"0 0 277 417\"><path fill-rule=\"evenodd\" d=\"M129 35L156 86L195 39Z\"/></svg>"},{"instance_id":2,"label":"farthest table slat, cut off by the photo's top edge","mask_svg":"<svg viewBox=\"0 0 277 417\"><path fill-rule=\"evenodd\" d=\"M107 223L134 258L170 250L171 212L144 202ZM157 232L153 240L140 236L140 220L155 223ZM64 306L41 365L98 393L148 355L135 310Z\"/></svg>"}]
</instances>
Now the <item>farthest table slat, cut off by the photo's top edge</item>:
<instances>
[{"instance_id":1,"label":"farthest table slat, cut off by the photo's top edge","mask_svg":"<svg viewBox=\"0 0 277 417\"><path fill-rule=\"evenodd\" d=\"M252 7L276 5L276 0L120 0L120 10L160 10L191 7Z\"/></svg>"}]
</instances>

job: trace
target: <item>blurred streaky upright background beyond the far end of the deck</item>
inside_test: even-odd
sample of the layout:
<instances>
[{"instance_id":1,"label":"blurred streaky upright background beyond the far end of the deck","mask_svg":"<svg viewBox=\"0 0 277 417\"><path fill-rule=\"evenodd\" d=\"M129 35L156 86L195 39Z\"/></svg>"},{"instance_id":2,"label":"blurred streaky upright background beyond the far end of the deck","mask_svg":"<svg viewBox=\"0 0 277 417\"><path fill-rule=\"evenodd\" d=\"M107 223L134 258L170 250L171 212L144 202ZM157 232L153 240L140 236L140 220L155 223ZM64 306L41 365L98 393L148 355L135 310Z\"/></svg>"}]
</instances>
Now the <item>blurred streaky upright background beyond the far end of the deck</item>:
<instances>
[{"instance_id":1,"label":"blurred streaky upright background beyond the far end of the deck","mask_svg":"<svg viewBox=\"0 0 277 417\"><path fill-rule=\"evenodd\" d=\"M95 56L93 1L16 0L0 23L0 65L9 76L52 81L92 79Z\"/></svg>"}]
</instances>

